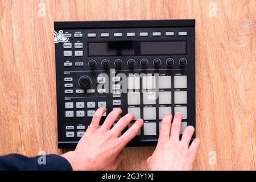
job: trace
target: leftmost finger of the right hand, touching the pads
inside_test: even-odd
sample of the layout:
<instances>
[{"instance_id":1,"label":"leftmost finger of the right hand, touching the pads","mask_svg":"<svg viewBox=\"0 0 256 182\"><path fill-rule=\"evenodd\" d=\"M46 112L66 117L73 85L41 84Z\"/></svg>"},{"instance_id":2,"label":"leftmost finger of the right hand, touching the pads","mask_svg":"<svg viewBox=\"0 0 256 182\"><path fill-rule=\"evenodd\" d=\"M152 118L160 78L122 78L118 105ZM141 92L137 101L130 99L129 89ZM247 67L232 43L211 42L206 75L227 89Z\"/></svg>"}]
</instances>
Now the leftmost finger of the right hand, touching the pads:
<instances>
[{"instance_id":1,"label":"leftmost finger of the right hand, touching the pads","mask_svg":"<svg viewBox=\"0 0 256 182\"><path fill-rule=\"evenodd\" d=\"M165 114L161 122L161 129L160 129L160 134L158 138L158 143L163 143L170 140L171 121L172 121L172 115Z\"/></svg>"}]
</instances>

